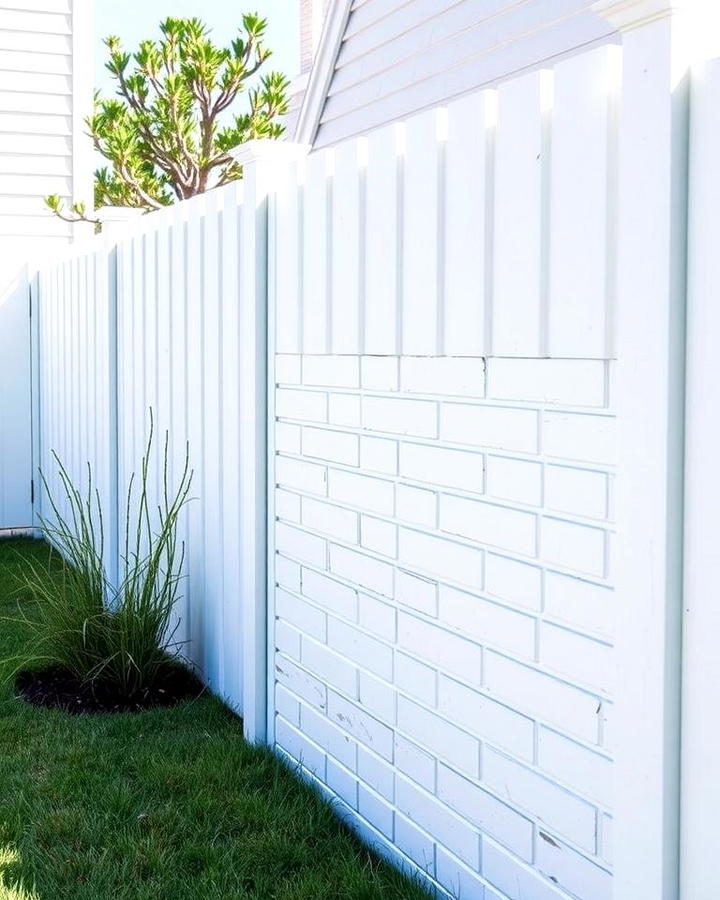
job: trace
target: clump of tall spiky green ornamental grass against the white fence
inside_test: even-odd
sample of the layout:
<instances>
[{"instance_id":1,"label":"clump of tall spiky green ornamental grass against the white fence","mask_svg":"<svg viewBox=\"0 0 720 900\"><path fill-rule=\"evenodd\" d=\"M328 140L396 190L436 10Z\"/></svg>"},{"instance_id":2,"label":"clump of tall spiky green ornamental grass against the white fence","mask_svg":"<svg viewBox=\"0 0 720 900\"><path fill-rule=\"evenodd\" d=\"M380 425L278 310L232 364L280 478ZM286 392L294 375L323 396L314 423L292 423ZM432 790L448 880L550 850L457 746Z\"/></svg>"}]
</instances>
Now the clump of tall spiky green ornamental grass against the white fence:
<instances>
[{"instance_id":1,"label":"clump of tall spiky green ornamental grass against the white fence","mask_svg":"<svg viewBox=\"0 0 720 900\"><path fill-rule=\"evenodd\" d=\"M153 421L142 459L139 493L135 476L127 492L122 577L113 584L104 561L105 535L99 492L88 464L85 496L53 454L67 512L52 497L52 519L42 519L45 538L62 557L60 571L48 578L32 560L22 589L36 603L20 608L29 642L20 668L61 667L84 687L132 700L150 690L180 650L173 625L184 545L178 547L177 523L188 502L192 472L186 450L179 486L170 490L168 436L165 437L162 497L151 512L149 499ZM137 495L137 496L136 496Z\"/></svg>"}]
</instances>

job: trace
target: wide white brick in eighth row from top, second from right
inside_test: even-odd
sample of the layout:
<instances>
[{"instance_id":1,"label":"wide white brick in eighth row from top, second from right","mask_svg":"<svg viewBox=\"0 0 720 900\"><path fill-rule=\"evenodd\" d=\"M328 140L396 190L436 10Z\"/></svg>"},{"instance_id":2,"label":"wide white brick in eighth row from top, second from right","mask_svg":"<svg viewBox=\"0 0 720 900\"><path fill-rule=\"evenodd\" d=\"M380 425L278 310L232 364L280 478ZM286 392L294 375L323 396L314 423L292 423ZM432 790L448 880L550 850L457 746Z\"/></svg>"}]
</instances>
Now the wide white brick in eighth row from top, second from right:
<instances>
[{"instance_id":1,"label":"wide white brick in eighth row from top, second from right","mask_svg":"<svg viewBox=\"0 0 720 900\"><path fill-rule=\"evenodd\" d=\"M438 709L447 719L483 741L532 761L535 747L532 719L446 675L440 676Z\"/></svg>"}]
</instances>

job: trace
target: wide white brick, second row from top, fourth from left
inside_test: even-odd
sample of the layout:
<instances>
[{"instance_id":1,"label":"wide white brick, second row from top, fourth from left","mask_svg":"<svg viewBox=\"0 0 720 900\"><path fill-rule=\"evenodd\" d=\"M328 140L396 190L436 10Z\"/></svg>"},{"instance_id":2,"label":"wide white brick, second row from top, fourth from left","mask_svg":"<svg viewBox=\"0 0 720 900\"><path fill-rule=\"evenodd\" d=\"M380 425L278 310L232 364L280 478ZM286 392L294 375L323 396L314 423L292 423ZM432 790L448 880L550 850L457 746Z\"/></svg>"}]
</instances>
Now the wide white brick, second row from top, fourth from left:
<instances>
[{"instance_id":1,"label":"wide white brick, second row from top, fourth from left","mask_svg":"<svg viewBox=\"0 0 720 900\"><path fill-rule=\"evenodd\" d=\"M538 414L530 409L443 403L440 437L475 447L537 453Z\"/></svg>"}]
</instances>

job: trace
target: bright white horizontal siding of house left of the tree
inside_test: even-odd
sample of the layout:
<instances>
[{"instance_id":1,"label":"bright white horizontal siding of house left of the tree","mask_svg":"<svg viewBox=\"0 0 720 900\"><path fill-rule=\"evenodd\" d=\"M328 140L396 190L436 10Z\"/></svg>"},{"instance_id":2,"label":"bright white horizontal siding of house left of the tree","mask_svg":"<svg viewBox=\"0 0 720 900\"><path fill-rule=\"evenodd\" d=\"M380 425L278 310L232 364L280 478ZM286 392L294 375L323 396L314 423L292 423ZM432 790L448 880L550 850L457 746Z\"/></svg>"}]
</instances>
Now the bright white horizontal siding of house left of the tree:
<instances>
[{"instance_id":1,"label":"bright white horizontal siding of house left of the tree","mask_svg":"<svg viewBox=\"0 0 720 900\"><path fill-rule=\"evenodd\" d=\"M43 198L88 199L92 53L85 0L11 0L0 5L0 256L62 245L71 226ZM82 52L77 52L82 39Z\"/></svg>"}]
</instances>

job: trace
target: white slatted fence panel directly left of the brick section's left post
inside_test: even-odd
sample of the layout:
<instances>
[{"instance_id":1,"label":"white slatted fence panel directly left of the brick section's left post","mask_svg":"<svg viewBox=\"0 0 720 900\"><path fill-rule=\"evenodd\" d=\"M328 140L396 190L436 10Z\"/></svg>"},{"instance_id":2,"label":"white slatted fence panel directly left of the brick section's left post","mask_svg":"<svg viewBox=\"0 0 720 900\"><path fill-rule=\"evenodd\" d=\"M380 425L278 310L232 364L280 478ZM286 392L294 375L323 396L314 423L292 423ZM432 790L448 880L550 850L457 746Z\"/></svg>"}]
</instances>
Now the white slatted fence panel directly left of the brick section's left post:
<instances>
[{"instance_id":1,"label":"white slatted fence panel directly left of the brick section's left post","mask_svg":"<svg viewBox=\"0 0 720 900\"><path fill-rule=\"evenodd\" d=\"M241 192L214 191L151 216L118 247L119 484L156 440L152 495L162 489L169 435L170 482L186 446L194 470L182 522L186 580L179 639L212 689L242 702L239 391ZM121 493L121 520L125 499Z\"/></svg>"}]
</instances>

